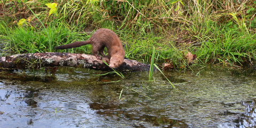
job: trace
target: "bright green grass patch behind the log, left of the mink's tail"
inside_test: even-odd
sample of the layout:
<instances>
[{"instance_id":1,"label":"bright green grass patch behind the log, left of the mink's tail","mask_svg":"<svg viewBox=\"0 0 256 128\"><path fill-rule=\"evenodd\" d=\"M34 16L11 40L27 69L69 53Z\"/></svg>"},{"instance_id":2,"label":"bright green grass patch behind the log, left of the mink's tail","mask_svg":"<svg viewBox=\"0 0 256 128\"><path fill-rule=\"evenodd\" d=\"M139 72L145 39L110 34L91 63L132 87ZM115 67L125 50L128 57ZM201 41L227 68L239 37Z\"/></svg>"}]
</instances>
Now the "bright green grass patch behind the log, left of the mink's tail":
<instances>
[{"instance_id":1,"label":"bright green grass patch behind the log, left of the mink's tail","mask_svg":"<svg viewBox=\"0 0 256 128\"><path fill-rule=\"evenodd\" d=\"M49 23L46 29L28 26L14 28L7 36L5 50L10 50L13 54L51 52L49 49L54 46L73 42L77 35L79 34L68 29L63 23Z\"/></svg>"}]
</instances>

